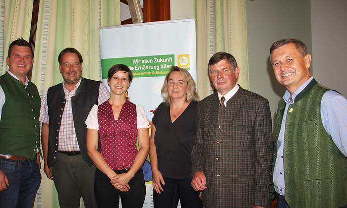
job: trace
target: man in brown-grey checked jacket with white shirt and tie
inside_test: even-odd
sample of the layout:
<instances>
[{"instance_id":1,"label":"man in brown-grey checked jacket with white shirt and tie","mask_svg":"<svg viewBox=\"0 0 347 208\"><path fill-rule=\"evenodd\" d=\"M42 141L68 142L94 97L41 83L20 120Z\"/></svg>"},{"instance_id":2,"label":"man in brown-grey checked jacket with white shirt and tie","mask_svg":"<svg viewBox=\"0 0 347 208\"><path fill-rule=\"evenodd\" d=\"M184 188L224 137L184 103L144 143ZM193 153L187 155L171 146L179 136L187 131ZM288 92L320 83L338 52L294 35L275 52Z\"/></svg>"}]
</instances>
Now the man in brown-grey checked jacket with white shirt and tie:
<instances>
[{"instance_id":1,"label":"man in brown-grey checked jacket with white shirt and tie","mask_svg":"<svg viewBox=\"0 0 347 208\"><path fill-rule=\"evenodd\" d=\"M235 58L209 60L216 93L198 103L192 182L206 208L269 207L272 131L269 102L236 85Z\"/></svg>"}]
</instances>

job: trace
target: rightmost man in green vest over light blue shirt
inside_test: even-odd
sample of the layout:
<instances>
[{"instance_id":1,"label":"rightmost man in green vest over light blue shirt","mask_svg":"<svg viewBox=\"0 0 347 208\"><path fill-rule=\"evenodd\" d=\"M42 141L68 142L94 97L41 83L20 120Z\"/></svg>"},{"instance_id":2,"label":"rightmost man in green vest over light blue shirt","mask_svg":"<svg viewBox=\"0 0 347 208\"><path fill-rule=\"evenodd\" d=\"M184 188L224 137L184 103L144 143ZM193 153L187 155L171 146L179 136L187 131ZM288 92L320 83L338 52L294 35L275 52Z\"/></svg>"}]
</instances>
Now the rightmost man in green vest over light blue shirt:
<instances>
[{"instance_id":1,"label":"rightmost man in green vest over light blue shirt","mask_svg":"<svg viewBox=\"0 0 347 208\"><path fill-rule=\"evenodd\" d=\"M270 59L287 88L277 106L273 189L277 208L347 206L347 100L310 75L299 40L272 44Z\"/></svg>"}]
</instances>

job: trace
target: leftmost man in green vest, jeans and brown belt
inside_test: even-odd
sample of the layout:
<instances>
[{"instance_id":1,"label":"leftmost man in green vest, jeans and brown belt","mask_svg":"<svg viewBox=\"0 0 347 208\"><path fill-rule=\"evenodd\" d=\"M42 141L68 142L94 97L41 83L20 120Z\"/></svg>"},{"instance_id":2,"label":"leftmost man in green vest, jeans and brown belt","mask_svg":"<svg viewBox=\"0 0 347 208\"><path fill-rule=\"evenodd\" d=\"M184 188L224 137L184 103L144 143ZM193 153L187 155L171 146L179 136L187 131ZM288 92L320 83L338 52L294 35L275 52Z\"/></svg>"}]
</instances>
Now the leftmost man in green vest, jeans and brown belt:
<instances>
[{"instance_id":1,"label":"leftmost man in green vest, jeans and brown belt","mask_svg":"<svg viewBox=\"0 0 347 208\"><path fill-rule=\"evenodd\" d=\"M40 96L27 74L33 51L13 41L0 76L0 208L32 208L40 187Z\"/></svg>"}]
</instances>

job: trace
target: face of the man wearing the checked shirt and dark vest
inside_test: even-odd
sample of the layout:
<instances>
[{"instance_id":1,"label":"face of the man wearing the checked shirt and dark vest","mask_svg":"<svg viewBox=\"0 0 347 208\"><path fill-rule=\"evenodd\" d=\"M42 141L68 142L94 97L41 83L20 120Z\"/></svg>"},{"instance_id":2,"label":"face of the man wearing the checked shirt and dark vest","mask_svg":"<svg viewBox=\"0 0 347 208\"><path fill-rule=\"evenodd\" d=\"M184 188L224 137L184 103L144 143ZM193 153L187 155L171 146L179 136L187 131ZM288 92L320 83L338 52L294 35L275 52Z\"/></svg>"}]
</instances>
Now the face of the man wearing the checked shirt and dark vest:
<instances>
[{"instance_id":1,"label":"face of the man wearing the checked shirt and dark vest","mask_svg":"<svg viewBox=\"0 0 347 208\"><path fill-rule=\"evenodd\" d=\"M62 55L59 71L65 81L65 85L76 85L82 76L82 70L82 64L76 53L66 52Z\"/></svg>"}]
</instances>

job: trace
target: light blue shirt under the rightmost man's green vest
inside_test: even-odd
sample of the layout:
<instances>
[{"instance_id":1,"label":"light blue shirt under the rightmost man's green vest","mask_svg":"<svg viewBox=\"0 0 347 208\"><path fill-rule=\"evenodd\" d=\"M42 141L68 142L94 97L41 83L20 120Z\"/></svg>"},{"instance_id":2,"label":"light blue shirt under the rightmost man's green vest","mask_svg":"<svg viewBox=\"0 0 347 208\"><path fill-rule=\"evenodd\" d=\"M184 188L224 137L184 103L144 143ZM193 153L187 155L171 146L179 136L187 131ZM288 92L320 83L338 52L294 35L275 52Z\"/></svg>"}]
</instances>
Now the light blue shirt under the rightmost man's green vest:
<instances>
[{"instance_id":1,"label":"light blue shirt under the rightmost man's green vest","mask_svg":"<svg viewBox=\"0 0 347 208\"><path fill-rule=\"evenodd\" d=\"M295 101L295 97L312 81L313 77L308 79L303 85L301 85L292 95L292 101ZM274 185L275 191L280 195L285 195L285 172L283 165L283 148L285 140L285 129L287 120L287 111L290 103L290 93L287 90L283 96L283 100L286 102L286 108L283 113L283 119L281 123L281 130L277 142L277 157L274 169ZM347 156L347 100L341 94L329 90L324 93L321 101L321 118L324 129L332 137L333 142L339 148L344 156Z\"/></svg>"}]
</instances>

